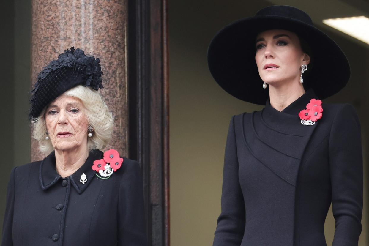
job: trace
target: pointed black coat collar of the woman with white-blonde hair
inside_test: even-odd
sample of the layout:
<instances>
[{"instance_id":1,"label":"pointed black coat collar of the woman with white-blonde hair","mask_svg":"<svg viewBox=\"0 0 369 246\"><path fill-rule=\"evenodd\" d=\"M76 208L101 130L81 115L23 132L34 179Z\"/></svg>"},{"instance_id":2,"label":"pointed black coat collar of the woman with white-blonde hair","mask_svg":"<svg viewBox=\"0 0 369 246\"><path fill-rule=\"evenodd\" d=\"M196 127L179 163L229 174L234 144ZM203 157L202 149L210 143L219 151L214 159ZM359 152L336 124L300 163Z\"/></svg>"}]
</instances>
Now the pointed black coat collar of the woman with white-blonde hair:
<instances>
[{"instance_id":1,"label":"pointed black coat collar of the woman with white-blonde hair","mask_svg":"<svg viewBox=\"0 0 369 246\"><path fill-rule=\"evenodd\" d=\"M96 171L92 170L92 165L94 160L102 159L103 152L100 150L92 150L90 155L87 157L85 164L83 164L75 173L69 175L70 183L72 183L73 187L76 191L81 194L89 185L93 177L95 176ZM81 179L82 174L86 174L87 181L85 184L82 184L79 180ZM49 187L53 186L58 182L62 177L56 172L55 168L55 153L51 152L50 155L46 156L41 164L39 170L39 180L41 183L42 190L46 190Z\"/></svg>"}]
</instances>

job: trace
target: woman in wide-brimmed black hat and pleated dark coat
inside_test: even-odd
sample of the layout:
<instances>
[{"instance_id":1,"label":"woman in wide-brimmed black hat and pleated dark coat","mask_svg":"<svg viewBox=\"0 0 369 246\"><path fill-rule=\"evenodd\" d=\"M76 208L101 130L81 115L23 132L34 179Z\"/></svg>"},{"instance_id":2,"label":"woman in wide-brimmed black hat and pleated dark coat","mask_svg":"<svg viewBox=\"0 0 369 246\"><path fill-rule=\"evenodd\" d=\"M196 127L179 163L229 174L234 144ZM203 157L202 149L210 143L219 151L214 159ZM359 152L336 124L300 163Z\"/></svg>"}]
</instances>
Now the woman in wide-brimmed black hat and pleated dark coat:
<instances>
[{"instance_id":1,"label":"woman in wide-brimmed black hat and pleated dark coat","mask_svg":"<svg viewBox=\"0 0 369 246\"><path fill-rule=\"evenodd\" d=\"M208 64L232 96L266 102L231 119L213 245L326 245L331 202L333 245L358 245L359 119L349 104L321 101L349 80L338 45L303 11L270 6L218 32Z\"/></svg>"}]
</instances>

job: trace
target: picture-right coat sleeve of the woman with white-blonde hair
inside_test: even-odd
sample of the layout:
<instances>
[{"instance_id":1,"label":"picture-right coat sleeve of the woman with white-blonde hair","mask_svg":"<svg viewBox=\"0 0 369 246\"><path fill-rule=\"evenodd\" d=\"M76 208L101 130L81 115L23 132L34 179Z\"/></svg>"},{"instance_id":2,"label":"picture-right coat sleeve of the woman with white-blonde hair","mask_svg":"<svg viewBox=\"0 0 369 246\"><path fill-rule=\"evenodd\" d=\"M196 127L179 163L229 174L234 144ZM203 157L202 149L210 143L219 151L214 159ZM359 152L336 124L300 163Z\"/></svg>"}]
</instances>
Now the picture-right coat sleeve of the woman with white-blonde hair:
<instances>
[{"instance_id":1,"label":"picture-right coat sleeve of the woman with white-blonde hair","mask_svg":"<svg viewBox=\"0 0 369 246\"><path fill-rule=\"evenodd\" d=\"M119 187L118 244L146 246L144 192L138 162L128 161Z\"/></svg>"}]
</instances>

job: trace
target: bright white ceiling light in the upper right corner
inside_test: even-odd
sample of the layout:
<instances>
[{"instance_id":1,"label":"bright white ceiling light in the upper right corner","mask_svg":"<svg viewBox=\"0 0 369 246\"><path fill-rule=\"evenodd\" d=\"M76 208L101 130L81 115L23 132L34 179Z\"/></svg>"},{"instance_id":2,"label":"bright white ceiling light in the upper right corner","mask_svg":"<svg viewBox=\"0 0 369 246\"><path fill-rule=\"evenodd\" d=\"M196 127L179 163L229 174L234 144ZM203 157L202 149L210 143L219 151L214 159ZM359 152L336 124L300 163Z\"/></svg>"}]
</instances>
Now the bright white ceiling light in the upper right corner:
<instances>
[{"instance_id":1,"label":"bright white ceiling light in the upper right corner","mask_svg":"<svg viewBox=\"0 0 369 246\"><path fill-rule=\"evenodd\" d=\"M365 16L327 19L323 23L369 44L369 18Z\"/></svg>"}]
</instances>

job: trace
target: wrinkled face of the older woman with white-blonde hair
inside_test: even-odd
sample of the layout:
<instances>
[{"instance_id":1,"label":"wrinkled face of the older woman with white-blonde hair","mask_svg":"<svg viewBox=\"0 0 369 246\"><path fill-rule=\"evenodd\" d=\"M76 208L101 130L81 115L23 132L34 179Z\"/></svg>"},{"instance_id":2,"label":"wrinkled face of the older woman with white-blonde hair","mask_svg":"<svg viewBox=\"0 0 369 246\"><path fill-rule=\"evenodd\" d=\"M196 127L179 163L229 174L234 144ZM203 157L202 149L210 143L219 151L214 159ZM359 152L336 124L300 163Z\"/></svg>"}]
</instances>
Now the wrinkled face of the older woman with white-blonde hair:
<instances>
[{"instance_id":1,"label":"wrinkled face of the older woman with white-blonde hair","mask_svg":"<svg viewBox=\"0 0 369 246\"><path fill-rule=\"evenodd\" d=\"M87 145L88 121L79 98L61 95L45 111L46 128L56 150Z\"/></svg>"}]
</instances>

